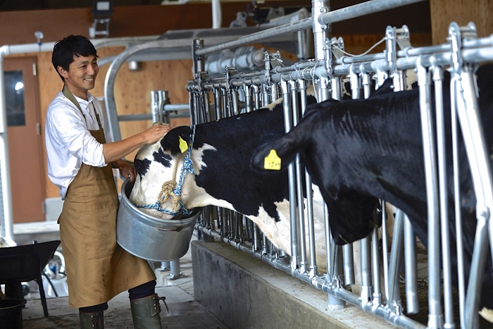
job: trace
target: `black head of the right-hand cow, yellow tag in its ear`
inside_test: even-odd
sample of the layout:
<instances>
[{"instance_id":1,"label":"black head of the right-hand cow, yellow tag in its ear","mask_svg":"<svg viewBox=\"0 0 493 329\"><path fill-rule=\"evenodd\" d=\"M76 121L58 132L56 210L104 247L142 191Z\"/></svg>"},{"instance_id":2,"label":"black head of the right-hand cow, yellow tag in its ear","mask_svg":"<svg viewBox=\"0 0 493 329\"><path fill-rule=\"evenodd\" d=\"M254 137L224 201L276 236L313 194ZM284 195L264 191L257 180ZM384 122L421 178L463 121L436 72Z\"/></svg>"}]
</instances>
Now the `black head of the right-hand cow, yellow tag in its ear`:
<instances>
[{"instance_id":1,"label":"black head of the right-hand cow, yellow tag in its ear","mask_svg":"<svg viewBox=\"0 0 493 329\"><path fill-rule=\"evenodd\" d=\"M270 159L275 158L279 163L277 168L282 170L299 153L313 183L320 187L327 203L335 243L346 244L366 237L380 223L373 218L377 198L363 195L347 184L353 179L352 172L348 166L341 166L347 161L340 160L344 160L349 146L346 144L343 150L337 149L337 134L344 135L346 130L332 128L331 122L334 120L325 117L326 113L334 112L335 120L342 118L344 113L337 112L338 104L342 103L327 100L308 106L303 120L287 135L256 149L251 158L251 167L259 171L271 170L268 165L273 162Z\"/></svg>"}]
</instances>

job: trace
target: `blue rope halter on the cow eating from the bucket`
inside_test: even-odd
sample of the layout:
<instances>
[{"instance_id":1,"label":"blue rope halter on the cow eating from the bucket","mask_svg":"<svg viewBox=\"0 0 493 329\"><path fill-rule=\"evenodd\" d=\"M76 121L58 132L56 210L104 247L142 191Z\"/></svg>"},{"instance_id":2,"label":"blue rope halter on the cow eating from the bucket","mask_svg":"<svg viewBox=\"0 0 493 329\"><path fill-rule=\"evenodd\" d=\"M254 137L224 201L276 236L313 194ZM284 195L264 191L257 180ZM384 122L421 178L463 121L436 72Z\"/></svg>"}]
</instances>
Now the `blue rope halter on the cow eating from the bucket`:
<instances>
[{"instance_id":1,"label":"blue rope halter on the cow eating from the bucket","mask_svg":"<svg viewBox=\"0 0 493 329\"><path fill-rule=\"evenodd\" d=\"M187 154L185 155L185 159L183 159L183 166L182 170L180 170L180 179L178 180L178 185L173 189L173 194L175 194L175 197L178 198L178 205L180 206L180 209L178 211L174 210L169 210L169 209L164 209L161 208L161 202L164 201L164 199L158 199L155 204L136 204L135 206L137 208L142 208L142 209L155 209L157 211L161 211L161 213L166 213L171 216L177 216L180 214L183 214L185 216L189 216L192 214L192 211L189 211L185 206L183 205L182 199L180 198L182 196L182 186L183 186L183 180L185 180L185 176L187 173L194 174L194 165L192 162L192 146L194 144L194 139L195 139L195 125L190 125L190 128L192 128L192 135L190 136L190 145L187 149Z\"/></svg>"}]
</instances>

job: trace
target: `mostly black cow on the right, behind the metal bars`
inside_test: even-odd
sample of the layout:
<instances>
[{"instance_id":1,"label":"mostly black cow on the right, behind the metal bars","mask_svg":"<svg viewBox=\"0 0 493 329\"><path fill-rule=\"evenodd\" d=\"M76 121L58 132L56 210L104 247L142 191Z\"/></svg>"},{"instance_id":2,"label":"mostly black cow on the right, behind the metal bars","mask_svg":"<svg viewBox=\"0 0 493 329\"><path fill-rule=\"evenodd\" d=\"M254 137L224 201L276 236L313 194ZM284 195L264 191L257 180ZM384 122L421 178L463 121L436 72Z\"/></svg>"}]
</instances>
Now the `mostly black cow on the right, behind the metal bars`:
<instances>
[{"instance_id":1,"label":"mostly black cow on the right, behind the metal bars","mask_svg":"<svg viewBox=\"0 0 493 329\"><path fill-rule=\"evenodd\" d=\"M493 153L493 66L482 66L478 73L480 110L485 139ZM353 242L368 234L366 214L376 199L385 199L409 216L420 240L427 244L427 201L425 166L420 130L418 90L393 92L390 80L369 99L325 101L308 106L299 125L284 137L260 147L252 166L263 169L264 158L272 149L287 165L299 152L301 160L320 187L330 214L332 236L339 244ZM444 85L447 85L445 83ZM451 154L450 97L444 87L446 147ZM459 145L463 249L468 278L475 235L475 195L466 151ZM493 165L493 157L492 159ZM451 156L447 159L449 182L449 221L451 258L456 273L456 234ZM264 170L265 171L265 170ZM368 229L365 229L365 228ZM455 275L456 276L456 275ZM456 283L456 278L454 278ZM466 281L467 282L467 281ZM493 309L492 258L487 256L482 283L481 305Z\"/></svg>"}]
</instances>

